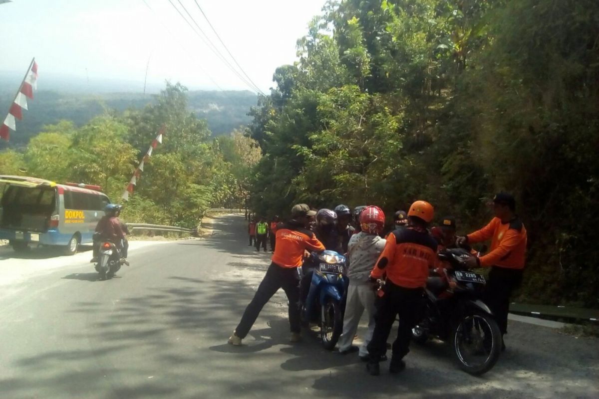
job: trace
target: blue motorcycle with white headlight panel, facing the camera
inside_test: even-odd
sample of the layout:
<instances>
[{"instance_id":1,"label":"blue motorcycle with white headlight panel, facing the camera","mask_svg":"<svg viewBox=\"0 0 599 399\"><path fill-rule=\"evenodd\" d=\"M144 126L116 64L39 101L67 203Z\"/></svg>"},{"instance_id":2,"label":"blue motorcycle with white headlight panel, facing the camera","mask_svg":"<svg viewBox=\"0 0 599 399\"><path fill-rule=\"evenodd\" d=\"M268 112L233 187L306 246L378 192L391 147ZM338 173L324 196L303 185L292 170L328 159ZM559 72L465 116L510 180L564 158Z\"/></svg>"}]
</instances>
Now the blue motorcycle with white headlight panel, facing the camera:
<instances>
[{"instance_id":1,"label":"blue motorcycle with white headlight panel, facing the camera","mask_svg":"<svg viewBox=\"0 0 599 399\"><path fill-rule=\"evenodd\" d=\"M332 351L343 331L343 313L347 285L346 258L335 251L313 253L304 263L311 263L314 270L310 290L302 304L302 321L317 321L320 340L325 349Z\"/></svg>"}]
</instances>

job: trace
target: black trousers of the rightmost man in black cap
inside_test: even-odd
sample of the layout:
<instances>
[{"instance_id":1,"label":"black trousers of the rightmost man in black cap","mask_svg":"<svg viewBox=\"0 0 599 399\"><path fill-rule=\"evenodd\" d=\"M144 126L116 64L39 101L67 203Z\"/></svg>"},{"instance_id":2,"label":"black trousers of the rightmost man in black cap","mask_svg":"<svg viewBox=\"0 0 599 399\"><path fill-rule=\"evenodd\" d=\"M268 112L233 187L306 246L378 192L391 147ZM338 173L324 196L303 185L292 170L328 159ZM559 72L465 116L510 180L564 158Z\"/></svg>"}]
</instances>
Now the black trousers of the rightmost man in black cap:
<instances>
[{"instance_id":1,"label":"black trousers of the rightmost man in black cap","mask_svg":"<svg viewBox=\"0 0 599 399\"><path fill-rule=\"evenodd\" d=\"M522 282L523 269L507 269L493 266L485 287L485 303L493 312L501 334L507 333L507 313L510 310L510 295Z\"/></svg>"}]
</instances>

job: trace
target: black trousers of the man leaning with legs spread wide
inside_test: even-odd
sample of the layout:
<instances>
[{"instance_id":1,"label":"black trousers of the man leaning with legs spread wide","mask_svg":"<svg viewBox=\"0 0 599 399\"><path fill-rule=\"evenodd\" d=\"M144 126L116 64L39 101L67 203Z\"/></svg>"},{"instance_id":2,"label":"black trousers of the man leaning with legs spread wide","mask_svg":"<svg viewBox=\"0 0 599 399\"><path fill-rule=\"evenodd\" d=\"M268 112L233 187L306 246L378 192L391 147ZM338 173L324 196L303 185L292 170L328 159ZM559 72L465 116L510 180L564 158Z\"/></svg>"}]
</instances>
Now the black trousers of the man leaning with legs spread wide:
<instances>
[{"instance_id":1,"label":"black trousers of the man leaning with legs spread wide","mask_svg":"<svg viewBox=\"0 0 599 399\"><path fill-rule=\"evenodd\" d=\"M291 332L299 333L301 331L301 324L299 321L298 285L299 275L297 267L280 267L271 263L264 279L262 279L262 282L258 286L258 291L256 291L250 304L247 305L246 311L243 312L241 321L237 328L235 328L235 334L240 338L247 336L256 318L258 318L262 307L279 291L279 288L283 288L289 300L289 327L291 328Z\"/></svg>"}]
</instances>

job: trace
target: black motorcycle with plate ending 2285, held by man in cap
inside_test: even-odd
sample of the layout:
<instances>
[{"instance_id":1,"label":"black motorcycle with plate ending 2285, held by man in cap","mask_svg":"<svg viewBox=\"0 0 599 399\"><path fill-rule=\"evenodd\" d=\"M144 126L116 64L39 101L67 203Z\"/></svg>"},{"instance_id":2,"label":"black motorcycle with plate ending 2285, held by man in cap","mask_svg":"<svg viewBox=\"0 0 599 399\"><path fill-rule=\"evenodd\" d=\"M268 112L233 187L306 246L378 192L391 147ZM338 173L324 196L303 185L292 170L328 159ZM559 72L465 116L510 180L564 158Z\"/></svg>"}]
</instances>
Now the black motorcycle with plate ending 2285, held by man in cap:
<instances>
[{"instance_id":1,"label":"black motorcycle with plate ending 2285, held by man in cap","mask_svg":"<svg viewBox=\"0 0 599 399\"><path fill-rule=\"evenodd\" d=\"M470 272L463 261L471 257L463 248L445 249L438 257L449 262L447 282L429 277L426 312L412 329L412 339L424 343L434 336L450 342L459 367L469 374L491 370L501 353L501 331L489 307L481 300L484 276Z\"/></svg>"}]
</instances>

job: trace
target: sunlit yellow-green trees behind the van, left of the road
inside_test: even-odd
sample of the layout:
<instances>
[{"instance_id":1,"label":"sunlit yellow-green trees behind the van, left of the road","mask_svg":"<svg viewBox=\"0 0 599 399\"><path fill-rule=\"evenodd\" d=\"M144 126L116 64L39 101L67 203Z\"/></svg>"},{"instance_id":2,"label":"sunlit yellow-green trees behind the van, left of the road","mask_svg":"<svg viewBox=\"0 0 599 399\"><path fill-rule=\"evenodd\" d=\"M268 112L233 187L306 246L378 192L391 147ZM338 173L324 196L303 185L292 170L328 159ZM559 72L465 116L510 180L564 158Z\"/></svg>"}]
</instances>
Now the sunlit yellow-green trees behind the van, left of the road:
<instances>
[{"instance_id":1,"label":"sunlit yellow-green trees behind the van, left of the road","mask_svg":"<svg viewBox=\"0 0 599 399\"><path fill-rule=\"evenodd\" d=\"M244 206L261 150L239 131L213 143L207 124L189 112L187 101L186 87L167 84L143 109L107 112L81 127L72 121L45 126L24 153L0 153L0 173L99 184L119 202L164 126L163 144L146 160L123 218L195 227L207 208ZM230 148L221 150L219 140L230 142Z\"/></svg>"}]
</instances>

